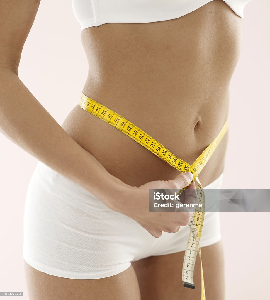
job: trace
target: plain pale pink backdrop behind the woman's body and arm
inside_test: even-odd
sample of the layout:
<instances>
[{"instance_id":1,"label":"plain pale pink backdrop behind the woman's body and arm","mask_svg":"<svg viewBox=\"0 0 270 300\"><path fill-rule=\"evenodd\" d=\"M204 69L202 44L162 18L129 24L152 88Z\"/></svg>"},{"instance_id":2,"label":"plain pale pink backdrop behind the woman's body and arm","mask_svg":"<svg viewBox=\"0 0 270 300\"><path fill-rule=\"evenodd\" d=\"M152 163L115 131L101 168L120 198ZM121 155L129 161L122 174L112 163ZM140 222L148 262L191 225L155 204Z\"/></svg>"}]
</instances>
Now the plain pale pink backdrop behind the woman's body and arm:
<instances>
[{"instance_id":1,"label":"plain pale pink backdrop behind the woman's body and arm","mask_svg":"<svg viewBox=\"0 0 270 300\"><path fill-rule=\"evenodd\" d=\"M270 146L269 12L269 0L253 0L244 10L242 52L230 89L223 188L270 188L269 175L261 167L269 165ZM19 76L59 124L79 103L87 60L71 1L41 1L23 49ZM20 99L16 101L20 104ZM2 134L0 145L0 291L23 291L28 299L22 254L23 210L37 160ZM221 213L226 300L270 299L269 218L269 212Z\"/></svg>"}]
</instances>

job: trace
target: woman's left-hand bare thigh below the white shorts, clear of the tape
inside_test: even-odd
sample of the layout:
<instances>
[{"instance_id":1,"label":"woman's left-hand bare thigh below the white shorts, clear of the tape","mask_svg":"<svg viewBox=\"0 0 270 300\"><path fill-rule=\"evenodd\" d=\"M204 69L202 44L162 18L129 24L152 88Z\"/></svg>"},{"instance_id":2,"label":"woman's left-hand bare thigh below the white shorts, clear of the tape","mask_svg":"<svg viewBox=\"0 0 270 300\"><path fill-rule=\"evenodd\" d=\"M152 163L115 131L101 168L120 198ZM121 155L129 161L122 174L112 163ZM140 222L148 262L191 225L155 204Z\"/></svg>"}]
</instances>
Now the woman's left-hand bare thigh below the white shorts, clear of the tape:
<instances>
[{"instance_id":1,"label":"woman's left-hand bare thigh below the white shorts, clear of the tape","mask_svg":"<svg viewBox=\"0 0 270 300\"><path fill-rule=\"evenodd\" d=\"M101 279L70 279L53 276L24 261L29 300L140 300L134 269Z\"/></svg>"}]
</instances>

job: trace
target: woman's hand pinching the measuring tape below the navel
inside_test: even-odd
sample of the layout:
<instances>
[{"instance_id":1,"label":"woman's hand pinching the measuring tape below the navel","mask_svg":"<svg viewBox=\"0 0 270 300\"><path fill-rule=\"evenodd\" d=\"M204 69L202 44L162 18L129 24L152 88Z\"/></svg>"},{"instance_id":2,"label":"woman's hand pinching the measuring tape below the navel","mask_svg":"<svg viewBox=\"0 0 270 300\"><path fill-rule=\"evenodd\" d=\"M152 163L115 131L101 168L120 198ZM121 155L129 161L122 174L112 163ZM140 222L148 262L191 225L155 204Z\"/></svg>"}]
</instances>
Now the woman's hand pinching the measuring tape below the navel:
<instances>
[{"instance_id":1,"label":"woman's hand pinching the measuring tape below the navel","mask_svg":"<svg viewBox=\"0 0 270 300\"><path fill-rule=\"evenodd\" d=\"M151 235L158 238L162 231L177 232L180 226L186 226L193 211L149 211L149 189L181 189L186 187L193 179L190 172L181 173L173 180L152 181L140 187L127 186L114 201L111 209L132 218L143 226ZM197 203L195 181L185 190L185 203Z\"/></svg>"}]
</instances>

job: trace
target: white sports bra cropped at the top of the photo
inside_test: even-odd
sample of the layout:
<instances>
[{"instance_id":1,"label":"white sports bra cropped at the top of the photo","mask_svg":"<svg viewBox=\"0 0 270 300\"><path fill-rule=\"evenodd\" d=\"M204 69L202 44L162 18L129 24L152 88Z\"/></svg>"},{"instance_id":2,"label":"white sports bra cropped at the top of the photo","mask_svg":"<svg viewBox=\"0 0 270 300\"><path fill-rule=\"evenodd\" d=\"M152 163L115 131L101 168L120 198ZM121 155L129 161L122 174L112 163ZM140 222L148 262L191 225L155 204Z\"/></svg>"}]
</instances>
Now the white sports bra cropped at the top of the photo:
<instances>
[{"instance_id":1,"label":"white sports bra cropped at the top of the photo","mask_svg":"<svg viewBox=\"0 0 270 300\"><path fill-rule=\"evenodd\" d=\"M176 19L213 0L72 0L81 29L105 23L148 23ZM241 18L251 0L223 0Z\"/></svg>"}]
</instances>

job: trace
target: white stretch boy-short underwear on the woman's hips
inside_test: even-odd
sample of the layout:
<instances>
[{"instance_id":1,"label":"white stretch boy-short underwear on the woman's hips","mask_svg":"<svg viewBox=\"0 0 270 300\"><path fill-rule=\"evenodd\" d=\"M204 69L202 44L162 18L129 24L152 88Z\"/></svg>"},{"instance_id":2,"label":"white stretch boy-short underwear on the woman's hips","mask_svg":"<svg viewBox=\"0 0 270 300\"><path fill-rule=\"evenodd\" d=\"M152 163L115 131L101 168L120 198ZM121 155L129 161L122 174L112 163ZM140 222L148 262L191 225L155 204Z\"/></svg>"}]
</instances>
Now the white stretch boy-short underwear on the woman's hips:
<instances>
[{"instance_id":1,"label":"white stretch boy-short underwear on the woman's hips","mask_svg":"<svg viewBox=\"0 0 270 300\"><path fill-rule=\"evenodd\" d=\"M205 188L220 188L223 174ZM38 162L24 208L23 258L54 276L98 279L116 275L132 261L184 251L190 232L148 233L112 211L78 184ZM221 239L219 212L205 212L201 247Z\"/></svg>"}]
</instances>

